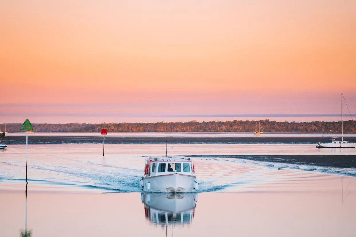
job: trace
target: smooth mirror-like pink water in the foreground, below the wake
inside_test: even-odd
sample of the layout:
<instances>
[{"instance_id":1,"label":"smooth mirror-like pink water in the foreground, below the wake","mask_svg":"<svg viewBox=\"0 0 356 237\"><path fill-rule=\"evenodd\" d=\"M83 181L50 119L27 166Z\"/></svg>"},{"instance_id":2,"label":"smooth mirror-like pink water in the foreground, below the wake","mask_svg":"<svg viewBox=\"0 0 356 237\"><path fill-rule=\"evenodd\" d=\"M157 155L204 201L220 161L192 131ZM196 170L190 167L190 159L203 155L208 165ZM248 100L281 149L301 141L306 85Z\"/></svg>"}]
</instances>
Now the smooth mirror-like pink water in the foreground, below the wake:
<instances>
[{"instance_id":1,"label":"smooth mirror-like pink water in the foreground, below the wake","mask_svg":"<svg viewBox=\"0 0 356 237\"><path fill-rule=\"evenodd\" d=\"M200 193L147 205L140 193L29 190L26 202L25 191L0 192L0 236L355 236L355 198L341 189Z\"/></svg>"}]
</instances>

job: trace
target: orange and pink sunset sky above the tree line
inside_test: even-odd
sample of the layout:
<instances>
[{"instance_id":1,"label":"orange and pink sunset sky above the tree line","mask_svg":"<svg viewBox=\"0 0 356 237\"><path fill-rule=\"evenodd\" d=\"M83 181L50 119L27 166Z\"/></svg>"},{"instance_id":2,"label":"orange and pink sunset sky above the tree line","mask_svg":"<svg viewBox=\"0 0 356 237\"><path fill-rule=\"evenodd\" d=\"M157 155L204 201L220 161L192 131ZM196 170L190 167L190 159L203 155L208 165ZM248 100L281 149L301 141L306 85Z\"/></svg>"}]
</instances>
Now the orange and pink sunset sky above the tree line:
<instances>
[{"instance_id":1,"label":"orange and pink sunset sky above the tree line","mask_svg":"<svg viewBox=\"0 0 356 237\"><path fill-rule=\"evenodd\" d=\"M356 113L355 12L354 0L3 1L0 123L339 114L341 92Z\"/></svg>"}]
</instances>

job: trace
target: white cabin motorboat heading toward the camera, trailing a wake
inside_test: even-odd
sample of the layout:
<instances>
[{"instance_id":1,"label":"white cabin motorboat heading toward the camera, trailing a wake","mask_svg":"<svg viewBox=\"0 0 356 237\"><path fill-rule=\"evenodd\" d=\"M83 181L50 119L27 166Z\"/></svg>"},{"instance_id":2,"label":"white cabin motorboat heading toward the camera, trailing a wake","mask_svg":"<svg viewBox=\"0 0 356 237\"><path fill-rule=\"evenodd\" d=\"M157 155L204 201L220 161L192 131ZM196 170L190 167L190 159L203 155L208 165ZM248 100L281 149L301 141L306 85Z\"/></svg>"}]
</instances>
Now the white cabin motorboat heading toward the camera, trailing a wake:
<instances>
[{"instance_id":1,"label":"white cabin motorboat heading toward the camera, trailing a wake","mask_svg":"<svg viewBox=\"0 0 356 237\"><path fill-rule=\"evenodd\" d=\"M197 176L190 158L151 156L145 160L140 187L144 192L196 192Z\"/></svg>"}]
</instances>

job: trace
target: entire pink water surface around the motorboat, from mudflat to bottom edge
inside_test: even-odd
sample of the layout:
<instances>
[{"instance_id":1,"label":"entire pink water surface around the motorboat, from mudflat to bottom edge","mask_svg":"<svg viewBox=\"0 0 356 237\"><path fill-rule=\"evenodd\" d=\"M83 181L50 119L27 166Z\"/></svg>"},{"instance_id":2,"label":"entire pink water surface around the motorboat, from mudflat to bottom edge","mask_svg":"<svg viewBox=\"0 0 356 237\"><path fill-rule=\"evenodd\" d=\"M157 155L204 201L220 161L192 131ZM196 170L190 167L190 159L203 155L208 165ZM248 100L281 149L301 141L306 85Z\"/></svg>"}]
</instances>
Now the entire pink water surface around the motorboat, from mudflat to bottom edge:
<instances>
[{"instance_id":1,"label":"entire pink water surface around the motorboat, from mudflat to bottom edge","mask_svg":"<svg viewBox=\"0 0 356 237\"><path fill-rule=\"evenodd\" d=\"M108 145L103 157L101 145L30 145L25 185L25 146L1 150L0 236L356 232L356 149L177 144L173 155L193 159L199 193L140 193L143 160L164 151L164 144Z\"/></svg>"}]
</instances>

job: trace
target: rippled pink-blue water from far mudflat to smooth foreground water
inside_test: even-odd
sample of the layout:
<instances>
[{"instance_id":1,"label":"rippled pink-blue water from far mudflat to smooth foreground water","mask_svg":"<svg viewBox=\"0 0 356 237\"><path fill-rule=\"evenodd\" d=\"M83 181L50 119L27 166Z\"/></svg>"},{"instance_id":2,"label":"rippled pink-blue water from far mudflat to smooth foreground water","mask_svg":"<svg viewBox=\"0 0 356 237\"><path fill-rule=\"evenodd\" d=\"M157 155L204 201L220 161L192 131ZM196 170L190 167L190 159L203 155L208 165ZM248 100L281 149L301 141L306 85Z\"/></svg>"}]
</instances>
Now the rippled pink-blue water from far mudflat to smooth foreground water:
<instances>
[{"instance_id":1,"label":"rippled pink-blue water from far mudflat to smooth foreground water","mask_svg":"<svg viewBox=\"0 0 356 237\"><path fill-rule=\"evenodd\" d=\"M163 155L164 144L30 145L28 179L37 189L85 192L140 192L138 181L148 155ZM171 147L168 154L171 155ZM194 160L200 192L240 192L256 186L315 175L356 176L356 149L316 149L312 145L177 144L173 155ZM0 151L0 184L22 184L25 146ZM278 170L280 168L281 170ZM313 172L310 172L313 171ZM262 187L268 187L264 185Z\"/></svg>"}]
</instances>

